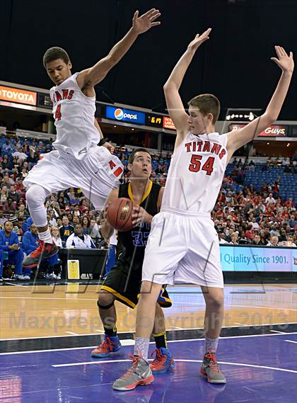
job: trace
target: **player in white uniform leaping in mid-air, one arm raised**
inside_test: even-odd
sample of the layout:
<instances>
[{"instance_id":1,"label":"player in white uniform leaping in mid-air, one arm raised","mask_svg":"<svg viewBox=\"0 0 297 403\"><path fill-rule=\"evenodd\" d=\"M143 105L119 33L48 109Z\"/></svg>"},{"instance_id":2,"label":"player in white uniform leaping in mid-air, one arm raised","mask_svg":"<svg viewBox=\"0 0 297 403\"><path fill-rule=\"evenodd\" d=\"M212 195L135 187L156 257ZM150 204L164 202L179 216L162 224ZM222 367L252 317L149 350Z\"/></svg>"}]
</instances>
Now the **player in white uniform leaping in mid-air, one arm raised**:
<instances>
[{"instance_id":1,"label":"player in white uniform leaping in mid-air, one arm raised","mask_svg":"<svg viewBox=\"0 0 297 403\"><path fill-rule=\"evenodd\" d=\"M140 17L136 11L127 35L112 47L106 57L79 73L71 73L69 56L62 48L51 47L45 52L43 64L55 84L50 89L50 98L57 140L53 144L55 150L45 154L23 182L28 188L28 208L41 241L40 247L23 261L24 267L37 266L40 259L57 253L44 206L48 195L69 187L81 188L91 197L95 208L101 209L112 188L119 186L123 172L120 159L110 154L107 148L97 146L100 127L94 121L94 86L122 59L139 34L160 24L155 21L160 15L156 8ZM100 137L103 137L101 132ZM103 142L100 141L99 145Z\"/></svg>"}]
</instances>

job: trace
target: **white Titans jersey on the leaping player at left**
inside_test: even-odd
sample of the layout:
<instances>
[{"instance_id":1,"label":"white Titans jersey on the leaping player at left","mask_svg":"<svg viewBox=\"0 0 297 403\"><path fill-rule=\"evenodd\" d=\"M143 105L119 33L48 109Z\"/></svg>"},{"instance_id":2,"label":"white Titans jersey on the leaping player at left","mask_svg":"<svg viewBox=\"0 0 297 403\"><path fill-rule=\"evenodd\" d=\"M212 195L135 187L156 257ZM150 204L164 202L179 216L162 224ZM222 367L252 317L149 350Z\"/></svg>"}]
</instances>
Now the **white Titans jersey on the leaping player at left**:
<instances>
[{"instance_id":1,"label":"white Titans jersey on the leaping player at left","mask_svg":"<svg viewBox=\"0 0 297 403\"><path fill-rule=\"evenodd\" d=\"M57 140L54 148L81 159L91 147L98 144L100 134L94 125L95 96L86 96L73 74L59 86L50 89L53 103Z\"/></svg>"}]
</instances>

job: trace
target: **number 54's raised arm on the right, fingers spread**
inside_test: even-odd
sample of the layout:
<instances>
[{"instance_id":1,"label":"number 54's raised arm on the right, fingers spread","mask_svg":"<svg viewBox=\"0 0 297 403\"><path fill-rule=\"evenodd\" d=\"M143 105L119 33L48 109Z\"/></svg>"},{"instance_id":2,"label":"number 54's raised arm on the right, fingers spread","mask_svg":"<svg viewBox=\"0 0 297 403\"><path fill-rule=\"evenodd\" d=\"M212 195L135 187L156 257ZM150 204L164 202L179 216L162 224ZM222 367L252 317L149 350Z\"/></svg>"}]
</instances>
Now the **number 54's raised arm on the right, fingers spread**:
<instances>
[{"instance_id":1,"label":"number 54's raised arm on the right, fingers spread","mask_svg":"<svg viewBox=\"0 0 297 403\"><path fill-rule=\"evenodd\" d=\"M272 125L274 121L278 118L281 107L283 106L284 100L286 98L286 93L288 92L291 77L294 69L293 53L290 52L288 56L284 47L275 46L276 56L271 59L276 62L276 64L281 69L281 78L276 86L276 90L265 110L263 115L259 118L253 120L251 123L239 130L233 130L228 133L228 154L230 157L236 149L242 147L244 144L255 139L263 130L265 130L269 125Z\"/></svg>"}]
</instances>

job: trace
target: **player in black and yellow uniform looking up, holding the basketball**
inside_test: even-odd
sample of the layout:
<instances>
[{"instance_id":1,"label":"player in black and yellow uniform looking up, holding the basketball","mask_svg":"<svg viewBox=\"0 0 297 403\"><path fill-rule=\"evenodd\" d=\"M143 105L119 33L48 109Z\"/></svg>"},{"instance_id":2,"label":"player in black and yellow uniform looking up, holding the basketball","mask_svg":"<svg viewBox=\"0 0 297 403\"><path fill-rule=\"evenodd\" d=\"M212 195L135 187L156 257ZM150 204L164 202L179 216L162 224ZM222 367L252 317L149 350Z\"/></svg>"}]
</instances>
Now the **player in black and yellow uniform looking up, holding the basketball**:
<instances>
[{"instance_id":1,"label":"player in black and yellow uniform looking up, holding the basketball","mask_svg":"<svg viewBox=\"0 0 297 403\"><path fill-rule=\"evenodd\" d=\"M161 208L163 190L160 185L150 181L151 155L146 149L135 149L129 157L128 169L131 171L129 183L110 192L107 205L117 198L130 198L134 208L134 228L117 234L117 263L107 274L98 296L100 318L105 330L105 339L95 348L91 356L103 358L119 351L121 344L117 337L115 300L128 307L137 305L141 288L141 270L144 249L151 229L151 220ZM102 234L109 239L114 228L107 220L103 222ZM119 254L120 252L120 254ZM156 304L156 319L153 336L156 341L156 358L151 364L153 373L164 373L175 366L173 356L167 348L165 319L162 307L170 307L171 301L163 286Z\"/></svg>"}]
</instances>

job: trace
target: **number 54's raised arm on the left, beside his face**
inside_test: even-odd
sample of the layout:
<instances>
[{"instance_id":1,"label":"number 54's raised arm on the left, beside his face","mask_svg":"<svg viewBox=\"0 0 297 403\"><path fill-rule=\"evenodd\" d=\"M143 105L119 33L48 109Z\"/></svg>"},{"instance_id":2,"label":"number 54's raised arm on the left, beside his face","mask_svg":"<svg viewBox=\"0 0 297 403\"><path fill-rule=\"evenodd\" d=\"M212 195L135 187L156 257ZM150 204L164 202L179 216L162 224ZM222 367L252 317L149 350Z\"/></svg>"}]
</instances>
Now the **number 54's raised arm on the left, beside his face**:
<instances>
[{"instance_id":1,"label":"number 54's raised arm on the left, beside his face","mask_svg":"<svg viewBox=\"0 0 297 403\"><path fill-rule=\"evenodd\" d=\"M209 39L210 32L211 28L202 33L202 35L197 34L195 36L194 40L192 40L192 42L190 42L190 44L188 45L186 52L177 62L175 68L173 69L173 72L170 74L169 79L164 85L164 93L168 112L177 130L177 139L175 141L176 147L180 144L180 142L182 142L182 139L187 134L187 130L189 127L189 123L187 122L189 116L187 115L182 104L182 100L180 98L180 93L178 92L178 90L180 89L182 79L187 72L187 68L192 62L192 58L195 52L197 51L198 47L202 45L203 42Z\"/></svg>"}]
</instances>

